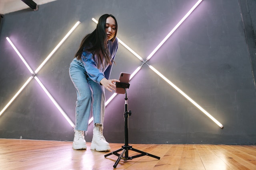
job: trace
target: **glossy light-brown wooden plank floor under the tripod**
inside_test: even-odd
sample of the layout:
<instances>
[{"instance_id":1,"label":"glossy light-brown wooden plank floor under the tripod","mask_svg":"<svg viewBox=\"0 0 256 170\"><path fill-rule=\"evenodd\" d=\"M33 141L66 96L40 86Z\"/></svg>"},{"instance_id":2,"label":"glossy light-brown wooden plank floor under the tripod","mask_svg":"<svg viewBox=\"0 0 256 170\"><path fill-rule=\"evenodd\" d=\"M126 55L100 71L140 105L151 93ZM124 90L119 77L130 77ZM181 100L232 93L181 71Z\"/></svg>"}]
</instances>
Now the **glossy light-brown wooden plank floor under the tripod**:
<instances>
[{"instance_id":1,"label":"glossy light-brown wooden plank floor under the tripod","mask_svg":"<svg viewBox=\"0 0 256 170\"><path fill-rule=\"evenodd\" d=\"M111 143L111 151L124 144ZM120 160L116 170L256 170L256 146L145 145L133 148L160 156ZM0 170L106 170L118 156L90 150L73 150L72 142L0 139ZM128 156L137 155L129 150Z\"/></svg>"}]
</instances>

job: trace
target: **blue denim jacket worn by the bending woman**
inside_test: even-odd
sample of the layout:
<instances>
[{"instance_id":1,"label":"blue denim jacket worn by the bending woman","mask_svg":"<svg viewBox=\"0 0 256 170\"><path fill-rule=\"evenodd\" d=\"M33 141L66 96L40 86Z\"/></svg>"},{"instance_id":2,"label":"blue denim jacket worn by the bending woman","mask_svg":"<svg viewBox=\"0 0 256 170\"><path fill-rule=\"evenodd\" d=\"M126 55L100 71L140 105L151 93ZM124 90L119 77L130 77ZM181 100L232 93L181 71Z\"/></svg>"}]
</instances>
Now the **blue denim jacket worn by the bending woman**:
<instances>
[{"instance_id":1,"label":"blue denim jacket worn by the bending woman","mask_svg":"<svg viewBox=\"0 0 256 170\"><path fill-rule=\"evenodd\" d=\"M118 49L117 38L113 43L112 41L108 41L108 49L110 51L113 63L116 56L116 51ZM109 79L113 64L108 64L103 61L103 64L100 63L100 68L98 68L97 66L99 63L96 57L97 56L92 55L92 53L84 51L82 53L82 62L84 63L84 68L90 79L94 80L94 82L100 83L100 80L102 80L102 78Z\"/></svg>"}]
</instances>

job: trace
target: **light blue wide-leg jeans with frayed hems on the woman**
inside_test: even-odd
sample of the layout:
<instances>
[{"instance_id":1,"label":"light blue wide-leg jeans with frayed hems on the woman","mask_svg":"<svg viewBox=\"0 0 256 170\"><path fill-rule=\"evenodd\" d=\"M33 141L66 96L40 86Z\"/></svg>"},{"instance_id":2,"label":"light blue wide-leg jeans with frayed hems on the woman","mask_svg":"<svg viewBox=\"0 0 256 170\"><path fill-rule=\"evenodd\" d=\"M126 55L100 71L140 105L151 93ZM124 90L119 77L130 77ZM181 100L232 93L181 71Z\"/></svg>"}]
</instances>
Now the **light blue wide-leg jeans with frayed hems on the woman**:
<instances>
[{"instance_id":1,"label":"light blue wide-leg jeans with frayed hems on the woman","mask_svg":"<svg viewBox=\"0 0 256 170\"><path fill-rule=\"evenodd\" d=\"M103 125L105 115L104 86L89 78L82 61L76 58L70 63L70 78L76 88L76 130L87 131L91 106L94 124Z\"/></svg>"}]
</instances>

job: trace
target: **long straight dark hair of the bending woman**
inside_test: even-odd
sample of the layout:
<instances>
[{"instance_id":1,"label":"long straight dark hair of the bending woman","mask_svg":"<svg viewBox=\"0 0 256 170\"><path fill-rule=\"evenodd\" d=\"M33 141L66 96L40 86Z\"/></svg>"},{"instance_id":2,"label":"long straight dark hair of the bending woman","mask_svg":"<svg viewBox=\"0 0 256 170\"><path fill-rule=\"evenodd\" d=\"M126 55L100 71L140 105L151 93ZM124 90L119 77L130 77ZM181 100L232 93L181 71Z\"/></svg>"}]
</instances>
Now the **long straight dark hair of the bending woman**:
<instances>
[{"instance_id":1,"label":"long straight dark hair of the bending woman","mask_svg":"<svg viewBox=\"0 0 256 170\"><path fill-rule=\"evenodd\" d=\"M110 55L110 52L108 50L108 46L106 43L107 35L106 35L105 27L106 27L106 20L108 17L112 17L115 20L116 33L117 33L116 18L114 16L112 16L111 14L102 15L99 18L96 29L92 33L85 35L85 37L82 39L80 47L75 55L75 57L78 60L81 60L83 51L89 51L93 55L98 56L98 63L100 61L103 64L103 61L105 59L105 61L107 63L112 64L111 63L111 60L112 60L111 55ZM109 40L109 41L112 41L111 43L113 43L114 40L116 39L116 33L115 33L114 37L111 40Z\"/></svg>"}]
</instances>

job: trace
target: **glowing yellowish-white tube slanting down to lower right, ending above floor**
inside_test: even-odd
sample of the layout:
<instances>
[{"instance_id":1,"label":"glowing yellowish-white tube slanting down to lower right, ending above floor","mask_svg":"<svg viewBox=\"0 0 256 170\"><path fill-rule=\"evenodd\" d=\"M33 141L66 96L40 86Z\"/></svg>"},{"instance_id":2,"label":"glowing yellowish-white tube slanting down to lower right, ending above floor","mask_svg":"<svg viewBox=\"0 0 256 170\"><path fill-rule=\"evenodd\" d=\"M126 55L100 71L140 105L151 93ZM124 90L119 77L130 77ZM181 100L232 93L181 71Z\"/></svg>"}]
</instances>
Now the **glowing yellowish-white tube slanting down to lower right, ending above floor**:
<instances>
[{"instance_id":1,"label":"glowing yellowish-white tube slanting down to lower right, ending above floor","mask_svg":"<svg viewBox=\"0 0 256 170\"><path fill-rule=\"evenodd\" d=\"M207 111L205 111L201 106L199 106L194 100L192 100L188 95L186 95L182 90L180 90L177 86L175 86L170 80L168 80L165 76L163 76L156 68L149 65L149 68L153 70L158 76L160 76L162 79L164 79L168 84L170 84L175 90L177 90L182 96L184 96L188 101L190 101L194 106L196 106L198 109L200 109L206 116L208 116L214 123L216 123L220 128L223 128L223 125L217 121L212 115L210 115Z\"/></svg>"}]
</instances>

